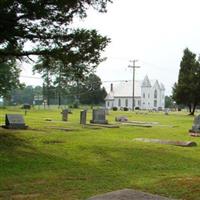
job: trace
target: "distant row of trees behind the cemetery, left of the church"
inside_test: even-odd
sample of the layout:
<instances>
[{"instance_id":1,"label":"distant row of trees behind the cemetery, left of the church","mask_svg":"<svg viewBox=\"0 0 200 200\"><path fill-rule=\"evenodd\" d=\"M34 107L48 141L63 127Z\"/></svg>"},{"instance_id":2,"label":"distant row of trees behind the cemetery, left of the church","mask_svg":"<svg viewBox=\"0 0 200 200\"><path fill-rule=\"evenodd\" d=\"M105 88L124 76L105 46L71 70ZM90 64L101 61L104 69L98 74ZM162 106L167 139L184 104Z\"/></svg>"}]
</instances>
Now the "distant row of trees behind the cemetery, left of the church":
<instances>
[{"instance_id":1,"label":"distant row of trees behind the cemetery, left of the church","mask_svg":"<svg viewBox=\"0 0 200 200\"><path fill-rule=\"evenodd\" d=\"M61 88L56 85L45 84L43 86L22 86L21 88L13 89L10 95L5 98L7 105L70 105L78 107L79 104L86 105L101 105L104 103L104 98L107 93L102 87L101 79L90 74L85 81L71 82Z\"/></svg>"}]
</instances>

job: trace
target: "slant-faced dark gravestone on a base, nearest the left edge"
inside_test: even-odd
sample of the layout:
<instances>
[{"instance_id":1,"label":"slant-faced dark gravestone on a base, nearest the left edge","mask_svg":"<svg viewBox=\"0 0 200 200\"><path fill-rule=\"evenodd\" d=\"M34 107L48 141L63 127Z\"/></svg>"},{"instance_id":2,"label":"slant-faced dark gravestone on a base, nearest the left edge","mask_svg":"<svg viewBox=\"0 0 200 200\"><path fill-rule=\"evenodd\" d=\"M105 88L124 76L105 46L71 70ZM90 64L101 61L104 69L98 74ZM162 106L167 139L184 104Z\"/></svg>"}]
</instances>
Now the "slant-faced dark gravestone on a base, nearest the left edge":
<instances>
[{"instance_id":1,"label":"slant-faced dark gravestone on a base, nearest the left edge","mask_svg":"<svg viewBox=\"0 0 200 200\"><path fill-rule=\"evenodd\" d=\"M5 125L3 128L8 129L27 129L28 126L25 125L24 118L19 114L6 114Z\"/></svg>"}]
</instances>

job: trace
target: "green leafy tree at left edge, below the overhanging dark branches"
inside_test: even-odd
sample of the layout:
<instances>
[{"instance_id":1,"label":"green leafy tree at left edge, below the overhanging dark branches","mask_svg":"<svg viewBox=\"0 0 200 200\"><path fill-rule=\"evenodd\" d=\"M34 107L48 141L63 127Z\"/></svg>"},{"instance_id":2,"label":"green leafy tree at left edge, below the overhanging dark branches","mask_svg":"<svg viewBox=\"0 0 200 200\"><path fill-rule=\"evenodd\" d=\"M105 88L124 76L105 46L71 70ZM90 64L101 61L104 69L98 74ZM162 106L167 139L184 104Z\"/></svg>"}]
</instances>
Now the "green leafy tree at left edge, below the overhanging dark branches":
<instances>
[{"instance_id":1,"label":"green leafy tree at left edge, below the overhanging dark branches","mask_svg":"<svg viewBox=\"0 0 200 200\"><path fill-rule=\"evenodd\" d=\"M22 87L19 81L20 69L15 59L0 63L0 96L8 98L10 91Z\"/></svg>"}]
</instances>

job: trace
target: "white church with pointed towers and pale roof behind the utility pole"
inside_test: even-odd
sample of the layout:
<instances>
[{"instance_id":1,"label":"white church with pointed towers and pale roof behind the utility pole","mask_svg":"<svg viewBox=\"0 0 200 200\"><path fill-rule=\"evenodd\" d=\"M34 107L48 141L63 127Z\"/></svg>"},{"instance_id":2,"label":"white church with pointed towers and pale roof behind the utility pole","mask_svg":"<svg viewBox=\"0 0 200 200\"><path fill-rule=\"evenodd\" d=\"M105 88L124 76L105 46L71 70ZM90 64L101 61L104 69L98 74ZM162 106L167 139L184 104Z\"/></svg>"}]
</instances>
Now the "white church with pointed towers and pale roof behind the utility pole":
<instances>
[{"instance_id":1,"label":"white church with pointed towers and pale roof behind the utility pole","mask_svg":"<svg viewBox=\"0 0 200 200\"><path fill-rule=\"evenodd\" d=\"M144 110L160 110L165 107L165 87L157 80L149 80L145 76L143 81L134 83L134 107ZM133 82L124 81L119 84L111 84L110 92L105 98L105 106L132 109Z\"/></svg>"}]
</instances>

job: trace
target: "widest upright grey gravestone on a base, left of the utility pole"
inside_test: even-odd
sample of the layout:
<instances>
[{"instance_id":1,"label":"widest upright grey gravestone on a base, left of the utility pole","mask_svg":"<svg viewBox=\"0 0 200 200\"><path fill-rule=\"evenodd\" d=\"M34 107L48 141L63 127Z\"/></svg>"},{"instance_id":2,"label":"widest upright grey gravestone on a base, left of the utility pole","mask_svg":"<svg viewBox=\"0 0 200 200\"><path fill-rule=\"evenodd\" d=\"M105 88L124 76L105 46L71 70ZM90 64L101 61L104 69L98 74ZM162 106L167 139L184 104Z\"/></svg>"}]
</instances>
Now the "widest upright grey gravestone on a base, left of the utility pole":
<instances>
[{"instance_id":1,"label":"widest upright grey gravestone on a base, left of the utility pole","mask_svg":"<svg viewBox=\"0 0 200 200\"><path fill-rule=\"evenodd\" d=\"M108 121L106 120L105 109L94 109L92 111L92 120L90 120L90 123L108 124Z\"/></svg>"}]
</instances>

